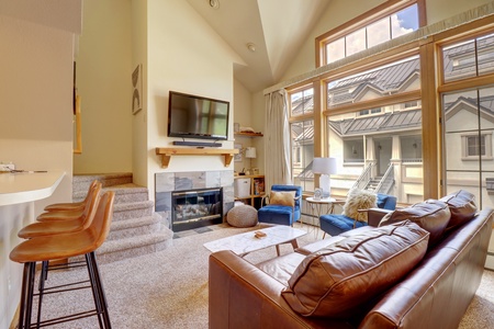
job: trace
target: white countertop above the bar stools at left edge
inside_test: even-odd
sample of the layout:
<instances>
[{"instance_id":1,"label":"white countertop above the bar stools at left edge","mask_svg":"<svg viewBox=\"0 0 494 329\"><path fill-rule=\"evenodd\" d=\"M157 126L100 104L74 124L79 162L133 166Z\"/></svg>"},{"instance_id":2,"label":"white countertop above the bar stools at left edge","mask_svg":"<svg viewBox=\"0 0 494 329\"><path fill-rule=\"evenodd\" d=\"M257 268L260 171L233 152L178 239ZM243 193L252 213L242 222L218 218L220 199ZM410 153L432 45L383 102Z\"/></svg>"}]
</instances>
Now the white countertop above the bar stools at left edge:
<instances>
[{"instance_id":1,"label":"white countertop above the bar stools at left edge","mask_svg":"<svg viewBox=\"0 0 494 329\"><path fill-rule=\"evenodd\" d=\"M64 175L63 171L0 173L0 206L48 197Z\"/></svg>"}]
</instances>

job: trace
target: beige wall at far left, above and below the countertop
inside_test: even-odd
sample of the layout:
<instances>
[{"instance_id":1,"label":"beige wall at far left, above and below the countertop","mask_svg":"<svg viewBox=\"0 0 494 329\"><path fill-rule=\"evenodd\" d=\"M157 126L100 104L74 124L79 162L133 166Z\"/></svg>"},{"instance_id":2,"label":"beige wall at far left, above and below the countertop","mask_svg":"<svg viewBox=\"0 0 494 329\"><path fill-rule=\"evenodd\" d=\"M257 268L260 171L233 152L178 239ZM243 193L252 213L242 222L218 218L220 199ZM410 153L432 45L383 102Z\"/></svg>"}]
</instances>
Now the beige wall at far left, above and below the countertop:
<instances>
[{"instance_id":1,"label":"beige wall at far left, above and below the countertop","mask_svg":"<svg viewBox=\"0 0 494 329\"><path fill-rule=\"evenodd\" d=\"M44 4L53 4L53 1L19 8L12 3L0 3L2 10L5 9L0 14L0 161L12 161L24 170L65 171L66 175L54 195L36 202L34 207L31 204L1 207L2 256L9 254L20 242L16 232L32 222L44 205L71 201L72 58L77 31L70 31L74 25L67 26L57 18L80 16L81 13L80 3L63 14L46 10L53 8ZM42 13L41 16L37 13ZM48 25L44 24L45 20ZM76 30L79 29L80 21ZM0 328L8 328L14 315L21 277L21 264L2 257Z\"/></svg>"}]
</instances>

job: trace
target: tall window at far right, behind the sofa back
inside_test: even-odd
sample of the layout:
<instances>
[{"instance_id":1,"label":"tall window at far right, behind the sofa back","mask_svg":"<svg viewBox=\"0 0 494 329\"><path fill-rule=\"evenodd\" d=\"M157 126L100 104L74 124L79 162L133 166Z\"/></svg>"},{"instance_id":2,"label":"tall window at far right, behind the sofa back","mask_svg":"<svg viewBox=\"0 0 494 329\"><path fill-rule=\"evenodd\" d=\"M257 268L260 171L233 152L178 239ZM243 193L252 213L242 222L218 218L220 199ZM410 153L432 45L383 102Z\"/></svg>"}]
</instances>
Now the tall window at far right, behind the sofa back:
<instances>
[{"instance_id":1,"label":"tall window at far right, behind the sofa back","mask_svg":"<svg viewBox=\"0 0 494 329\"><path fill-rule=\"evenodd\" d=\"M494 34L448 44L441 57L446 193L463 189L493 206Z\"/></svg>"}]
</instances>

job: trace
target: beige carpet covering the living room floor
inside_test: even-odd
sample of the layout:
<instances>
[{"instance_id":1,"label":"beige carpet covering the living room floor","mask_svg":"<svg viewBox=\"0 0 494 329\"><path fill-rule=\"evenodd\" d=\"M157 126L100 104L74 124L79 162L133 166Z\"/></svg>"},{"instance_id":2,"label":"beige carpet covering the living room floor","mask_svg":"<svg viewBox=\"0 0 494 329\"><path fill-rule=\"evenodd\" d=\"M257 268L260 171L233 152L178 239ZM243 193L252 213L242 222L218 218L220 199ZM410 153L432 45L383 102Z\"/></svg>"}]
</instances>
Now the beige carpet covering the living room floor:
<instances>
[{"instance_id":1,"label":"beige carpet covering the living room floor","mask_svg":"<svg viewBox=\"0 0 494 329\"><path fill-rule=\"evenodd\" d=\"M206 241L248 229L226 225L209 227L205 232L181 232L164 251L103 264L100 271L110 306L113 328L207 328ZM319 235L321 238L322 235ZM303 246L315 240L311 231L299 240ZM281 252L291 252L281 246ZM269 248L247 254L250 262L276 257ZM86 271L50 272L48 282L71 282L86 277ZM92 307L88 290L46 296L43 314L63 315ZM492 328L494 324L494 273L484 272L482 284L460 328ZM96 318L60 324L54 328L98 328Z\"/></svg>"}]
</instances>

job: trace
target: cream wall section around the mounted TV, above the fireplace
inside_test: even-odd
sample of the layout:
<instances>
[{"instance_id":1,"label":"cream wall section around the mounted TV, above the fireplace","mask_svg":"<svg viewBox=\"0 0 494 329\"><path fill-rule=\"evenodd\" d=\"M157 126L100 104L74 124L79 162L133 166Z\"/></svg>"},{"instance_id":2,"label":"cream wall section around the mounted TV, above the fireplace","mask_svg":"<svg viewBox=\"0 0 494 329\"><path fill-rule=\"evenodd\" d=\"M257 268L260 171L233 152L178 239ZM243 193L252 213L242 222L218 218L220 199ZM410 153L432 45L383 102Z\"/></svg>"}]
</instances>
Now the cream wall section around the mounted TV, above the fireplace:
<instances>
[{"instance_id":1,"label":"cream wall section around the mounted TV, above the fireplace","mask_svg":"<svg viewBox=\"0 0 494 329\"><path fill-rule=\"evenodd\" d=\"M169 90L210 97L231 102L235 113L233 63L240 58L182 0L149 0L147 2L147 186L154 194L156 172L227 170L220 156L172 156L168 169L162 169L156 147L172 147L167 137ZM233 148L233 122L223 148ZM137 137L143 138L143 137ZM229 170L233 170L233 162Z\"/></svg>"}]
</instances>

